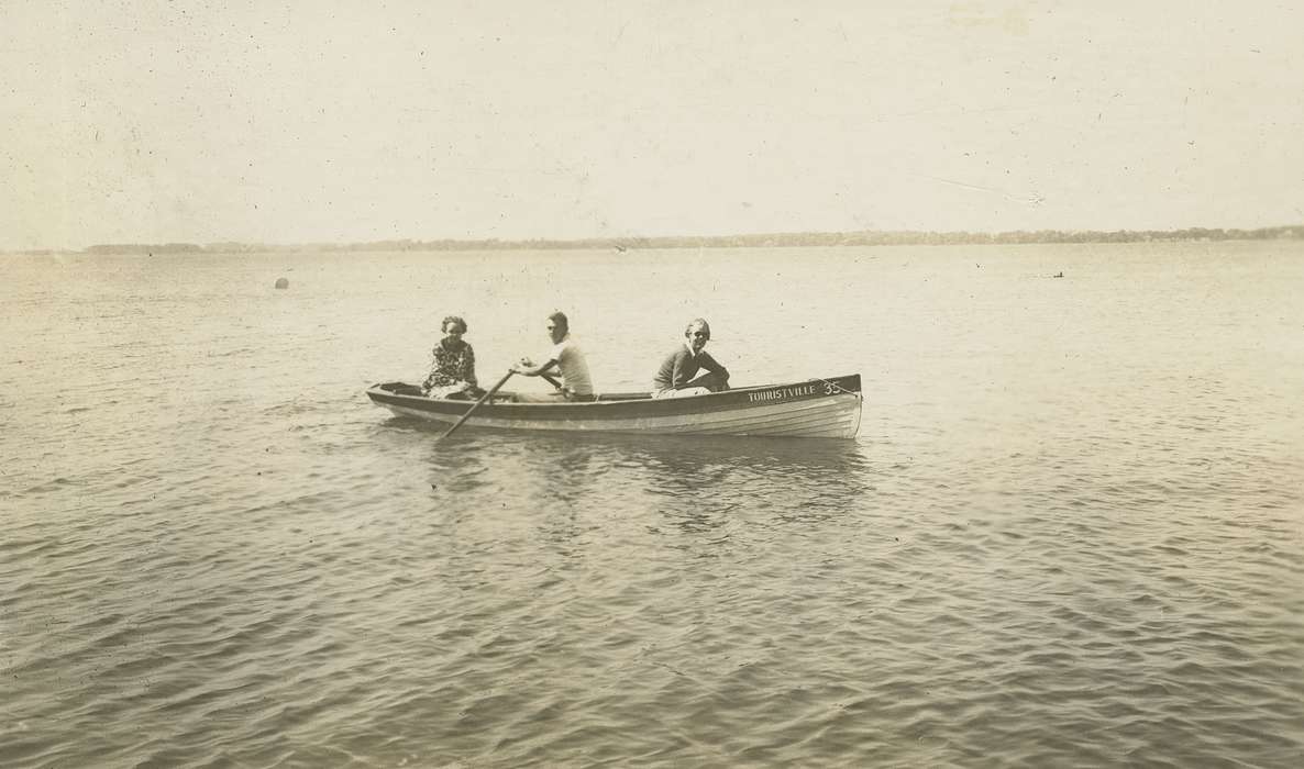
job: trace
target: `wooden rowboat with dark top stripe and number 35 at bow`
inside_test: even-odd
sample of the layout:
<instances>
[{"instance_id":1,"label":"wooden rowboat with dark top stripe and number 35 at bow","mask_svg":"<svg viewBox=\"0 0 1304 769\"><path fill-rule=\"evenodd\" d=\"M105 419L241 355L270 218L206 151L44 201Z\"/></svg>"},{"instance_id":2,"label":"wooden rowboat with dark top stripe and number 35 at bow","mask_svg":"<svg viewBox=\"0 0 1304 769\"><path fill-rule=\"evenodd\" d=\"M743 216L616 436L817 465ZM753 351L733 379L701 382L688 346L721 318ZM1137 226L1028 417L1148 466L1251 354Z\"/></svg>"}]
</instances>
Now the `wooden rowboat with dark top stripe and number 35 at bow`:
<instances>
[{"instance_id":1,"label":"wooden rowboat with dark top stripe and number 35 at bow","mask_svg":"<svg viewBox=\"0 0 1304 769\"><path fill-rule=\"evenodd\" d=\"M373 384L366 395L395 414L450 425L472 405L469 400L425 398L419 387L403 382ZM511 392L497 392L466 425L576 433L854 438L861 426L861 400L859 374L686 398L609 394L587 403L516 401Z\"/></svg>"}]
</instances>

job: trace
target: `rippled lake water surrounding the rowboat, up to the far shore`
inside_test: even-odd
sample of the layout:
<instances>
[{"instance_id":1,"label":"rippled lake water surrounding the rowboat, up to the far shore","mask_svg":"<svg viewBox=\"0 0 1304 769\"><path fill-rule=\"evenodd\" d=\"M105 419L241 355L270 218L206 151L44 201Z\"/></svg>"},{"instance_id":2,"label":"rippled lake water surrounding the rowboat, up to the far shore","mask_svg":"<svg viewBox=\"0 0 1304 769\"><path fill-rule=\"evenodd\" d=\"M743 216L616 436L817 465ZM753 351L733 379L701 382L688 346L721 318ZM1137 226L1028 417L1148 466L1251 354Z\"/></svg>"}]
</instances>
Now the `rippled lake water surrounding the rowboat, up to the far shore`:
<instances>
[{"instance_id":1,"label":"rippled lake water surrounding the rowboat, up to the far shore","mask_svg":"<svg viewBox=\"0 0 1304 769\"><path fill-rule=\"evenodd\" d=\"M7 766L1304 760L1304 244L0 275ZM493 382L558 308L599 390L705 315L735 384L861 373L859 437L364 395L450 313Z\"/></svg>"}]
</instances>

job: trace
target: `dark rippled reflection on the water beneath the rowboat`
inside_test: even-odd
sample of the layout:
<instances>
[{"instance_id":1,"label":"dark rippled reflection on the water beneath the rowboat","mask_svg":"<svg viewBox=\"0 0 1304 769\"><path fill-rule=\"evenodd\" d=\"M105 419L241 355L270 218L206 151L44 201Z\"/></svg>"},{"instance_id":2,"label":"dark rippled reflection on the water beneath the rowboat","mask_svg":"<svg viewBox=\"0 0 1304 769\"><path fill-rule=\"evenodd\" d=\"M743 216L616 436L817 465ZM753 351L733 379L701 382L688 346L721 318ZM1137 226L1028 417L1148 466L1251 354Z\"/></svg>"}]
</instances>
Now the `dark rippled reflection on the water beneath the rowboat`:
<instances>
[{"instance_id":1,"label":"dark rippled reflection on the water beneath the rowboat","mask_svg":"<svg viewBox=\"0 0 1304 769\"><path fill-rule=\"evenodd\" d=\"M535 510L580 504L692 529L841 519L874 508L882 477L859 441L471 431L458 451L430 456L441 467L486 463L499 487L528 489Z\"/></svg>"}]
</instances>

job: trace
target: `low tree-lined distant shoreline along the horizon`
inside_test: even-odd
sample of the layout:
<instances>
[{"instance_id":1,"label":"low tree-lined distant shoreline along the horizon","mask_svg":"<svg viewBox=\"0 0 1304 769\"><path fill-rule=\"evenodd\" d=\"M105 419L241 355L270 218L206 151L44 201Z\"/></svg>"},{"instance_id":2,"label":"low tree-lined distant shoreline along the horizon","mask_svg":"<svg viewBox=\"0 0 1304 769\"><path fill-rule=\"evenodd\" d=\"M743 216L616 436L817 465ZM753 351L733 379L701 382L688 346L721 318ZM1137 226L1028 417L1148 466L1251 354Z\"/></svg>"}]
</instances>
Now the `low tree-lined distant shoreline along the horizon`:
<instances>
[{"instance_id":1,"label":"low tree-lined distant shoreline along the horizon","mask_svg":"<svg viewBox=\"0 0 1304 769\"><path fill-rule=\"evenodd\" d=\"M293 252L471 252L471 250L639 250L682 248L784 248L784 246L883 246L883 245L1025 245L1180 242L1228 240L1304 240L1304 224L1258 229L1119 229L1107 231L1015 231L1015 232L778 232L769 235L593 237L576 240L378 240L349 244L250 244L163 242L96 244L82 250L26 249L10 254L230 254Z\"/></svg>"}]
</instances>

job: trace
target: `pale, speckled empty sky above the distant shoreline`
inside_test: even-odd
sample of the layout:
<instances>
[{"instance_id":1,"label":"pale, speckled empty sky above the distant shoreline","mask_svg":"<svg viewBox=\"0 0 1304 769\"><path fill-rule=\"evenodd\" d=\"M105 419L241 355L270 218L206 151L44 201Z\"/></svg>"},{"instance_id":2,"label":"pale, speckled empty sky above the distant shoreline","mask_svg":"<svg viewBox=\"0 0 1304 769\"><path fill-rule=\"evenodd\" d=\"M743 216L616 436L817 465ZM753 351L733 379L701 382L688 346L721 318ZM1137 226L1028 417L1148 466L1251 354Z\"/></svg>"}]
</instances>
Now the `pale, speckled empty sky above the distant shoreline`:
<instances>
[{"instance_id":1,"label":"pale, speckled empty sky above the distant shoreline","mask_svg":"<svg viewBox=\"0 0 1304 769\"><path fill-rule=\"evenodd\" d=\"M0 0L0 249L1297 224L1300 30L1257 0Z\"/></svg>"}]
</instances>

